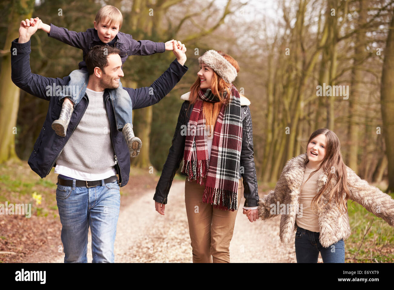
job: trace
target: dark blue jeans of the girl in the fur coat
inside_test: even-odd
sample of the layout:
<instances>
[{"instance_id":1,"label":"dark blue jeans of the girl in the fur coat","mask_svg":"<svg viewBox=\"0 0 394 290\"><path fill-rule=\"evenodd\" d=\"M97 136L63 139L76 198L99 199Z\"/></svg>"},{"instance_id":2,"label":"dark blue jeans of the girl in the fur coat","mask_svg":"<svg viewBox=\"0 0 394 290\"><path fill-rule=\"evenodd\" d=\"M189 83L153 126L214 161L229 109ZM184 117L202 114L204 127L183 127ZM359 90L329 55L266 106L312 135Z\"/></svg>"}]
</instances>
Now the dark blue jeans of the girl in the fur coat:
<instances>
[{"instance_id":1,"label":"dark blue jeans of the girl in the fur coat","mask_svg":"<svg viewBox=\"0 0 394 290\"><path fill-rule=\"evenodd\" d=\"M295 241L297 263L317 263L319 252L323 263L344 263L344 240L340 239L328 248L324 248L319 242L319 236L318 232L311 232L297 226Z\"/></svg>"}]
</instances>

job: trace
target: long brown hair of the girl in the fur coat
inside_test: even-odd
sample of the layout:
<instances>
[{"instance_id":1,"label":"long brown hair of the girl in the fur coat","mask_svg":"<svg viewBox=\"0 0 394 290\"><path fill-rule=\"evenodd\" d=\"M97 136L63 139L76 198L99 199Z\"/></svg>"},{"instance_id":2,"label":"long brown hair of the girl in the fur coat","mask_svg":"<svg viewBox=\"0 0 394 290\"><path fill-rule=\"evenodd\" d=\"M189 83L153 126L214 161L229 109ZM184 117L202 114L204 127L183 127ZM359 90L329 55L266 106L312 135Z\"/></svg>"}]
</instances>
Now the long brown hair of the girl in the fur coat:
<instances>
[{"instance_id":1,"label":"long brown hair of the girl in the fur coat","mask_svg":"<svg viewBox=\"0 0 394 290\"><path fill-rule=\"evenodd\" d=\"M328 180L325 183L325 185L322 187L322 189L320 189L320 191L314 196L311 205L317 206L318 209L320 210L321 209L321 207L319 206L320 199L322 198L323 192L325 192L326 189L329 189L330 192L329 203L331 202L331 200L335 200L336 206L340 211L343 211L342 214L344 214L348 209L347 202L349 199L349 183L348 183L348 173L346 171L346 165L343 162L342 153L340 151L340 142L338 137L333 131L326 128L322 128L314 131L312 135L310 135L308 144L314 137L320 134L325 135L326 138L325 156L323 161L320 163L320 166L315 171L310 173L307 181L312 176L312 174L317 172L320 168L323 168L325 172L328 172L328 176L327 176ZM334 176L336 176L337 179L336 184L333 184ZM305 181L305 183L307 181ZM327 206L329 203L327 203L324 206Z\"/></svg>"}]
</instances>

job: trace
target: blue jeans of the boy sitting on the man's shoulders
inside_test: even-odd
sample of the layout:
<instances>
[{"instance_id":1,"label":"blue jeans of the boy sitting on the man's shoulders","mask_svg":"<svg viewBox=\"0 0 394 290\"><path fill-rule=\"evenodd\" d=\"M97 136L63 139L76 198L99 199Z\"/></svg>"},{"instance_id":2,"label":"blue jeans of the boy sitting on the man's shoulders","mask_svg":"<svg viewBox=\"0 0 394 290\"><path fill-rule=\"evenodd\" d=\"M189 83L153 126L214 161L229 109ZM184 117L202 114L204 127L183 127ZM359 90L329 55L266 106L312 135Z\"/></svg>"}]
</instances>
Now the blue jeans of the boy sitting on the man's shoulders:
<instances>
[{"instance_id":1,"label":"blue jeans of the boy sitting on the man's shoulders","mask_svg":"<svg viewBox=\"0 0 394 290\"><path fill-rule=\"evenodd\" d=\"M63 93L59 96L59 101L64 97L69 97L74 105L78 104L84 97L86 92L89 73L84 70L76 69L70 73L70 82L65 86ZM133 105L130 95L123 90L121 81L119 87L110 89L110 97L112 101L113 112L115 113L116 128L122 129L125 124L133 124Z\"/></svg>"}]
</instances>

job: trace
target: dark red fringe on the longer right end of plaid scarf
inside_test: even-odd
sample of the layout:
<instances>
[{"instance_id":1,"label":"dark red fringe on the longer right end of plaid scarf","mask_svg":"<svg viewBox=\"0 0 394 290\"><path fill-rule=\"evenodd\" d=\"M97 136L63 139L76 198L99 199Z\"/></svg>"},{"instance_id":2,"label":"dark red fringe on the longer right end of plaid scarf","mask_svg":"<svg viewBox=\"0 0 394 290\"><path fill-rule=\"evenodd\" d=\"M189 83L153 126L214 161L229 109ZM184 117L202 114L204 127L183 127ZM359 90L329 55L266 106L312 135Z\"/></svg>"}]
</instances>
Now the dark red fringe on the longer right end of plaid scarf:
<instances>
[{"instance_id":1,"label":"dark red fringe on the longer right end of plaid scarf","mask_svg":"<svg viewBox=\"0 0 394 290\"><path fill-rule=\"evenodd\" d=\"M203 202L220 210L238 210L238 192L205 186Z\"/></svg>"}]
</instances>

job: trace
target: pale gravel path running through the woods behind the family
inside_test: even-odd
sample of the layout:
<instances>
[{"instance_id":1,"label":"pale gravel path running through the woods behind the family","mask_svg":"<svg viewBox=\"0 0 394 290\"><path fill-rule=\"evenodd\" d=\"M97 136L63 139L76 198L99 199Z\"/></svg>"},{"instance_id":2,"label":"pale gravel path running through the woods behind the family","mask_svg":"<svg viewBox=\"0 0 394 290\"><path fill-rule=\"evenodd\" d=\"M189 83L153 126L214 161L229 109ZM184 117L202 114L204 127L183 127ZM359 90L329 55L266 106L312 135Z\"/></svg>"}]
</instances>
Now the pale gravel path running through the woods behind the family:
<instances>
[{"instance_id":1,"label":"pale gravel path running through the woods behind the family","mask_svg":"<svg viewBox=\"0 0 394 290\"><path fill-rule=\"evenodd\" d=\"M121 207L115 262L192 262L184 186L184 181L172 184L164 216L154 210L154 190ZM279 240L279 222L276 217L250 223L239 211L230 243L231 262L296 262L294 243L285 246ZM91 262L90 232L87 255ZM63 259L57 255L52 262Z\"/></svg>"}]
</instances>

